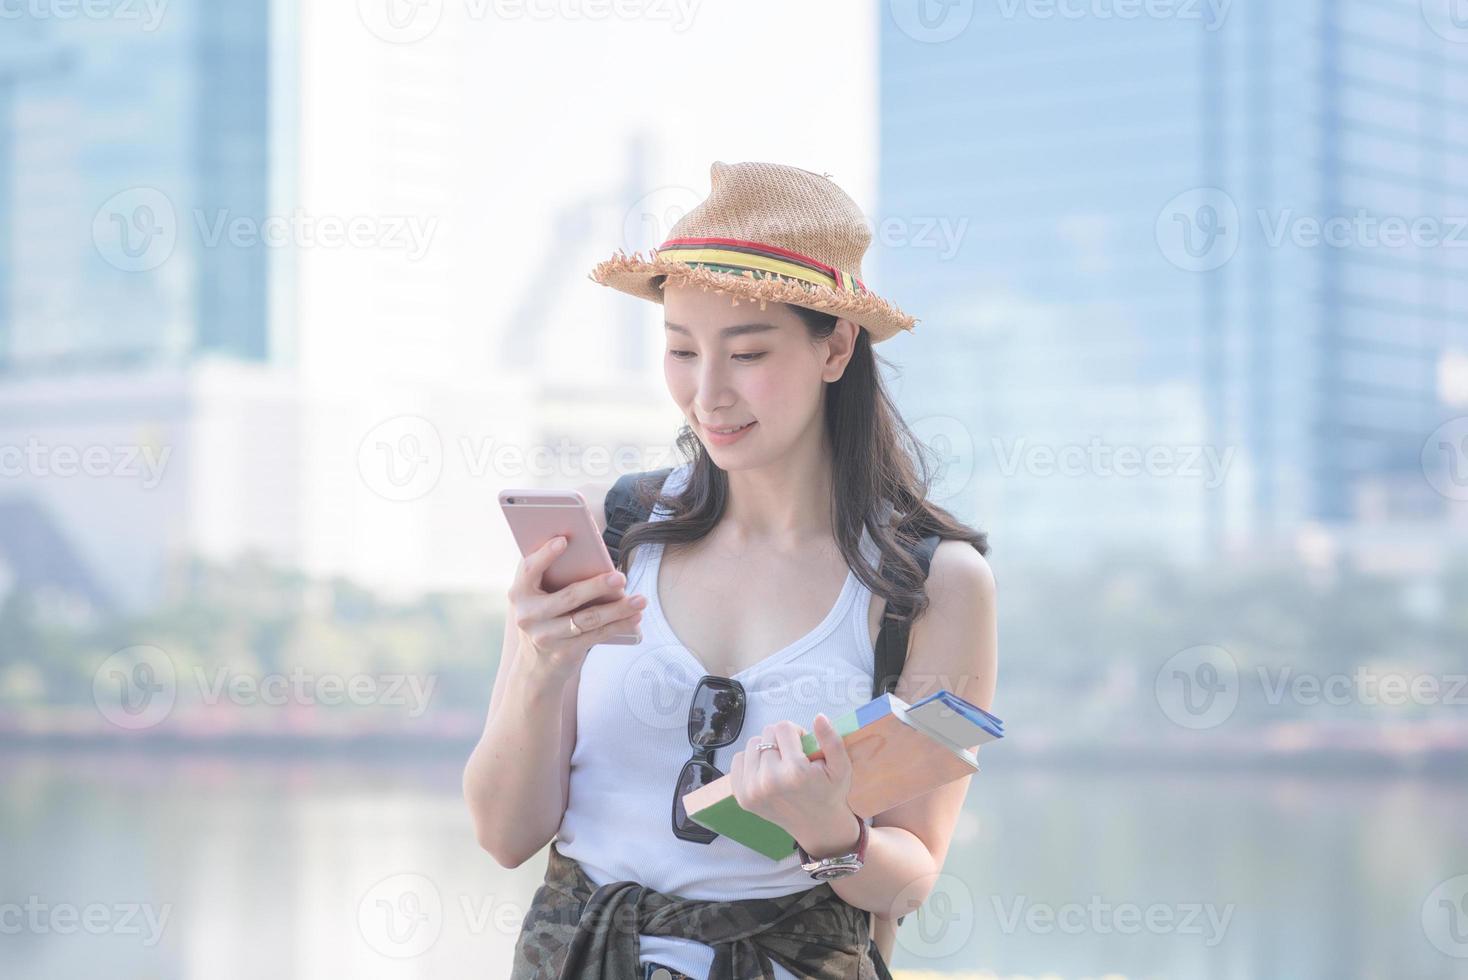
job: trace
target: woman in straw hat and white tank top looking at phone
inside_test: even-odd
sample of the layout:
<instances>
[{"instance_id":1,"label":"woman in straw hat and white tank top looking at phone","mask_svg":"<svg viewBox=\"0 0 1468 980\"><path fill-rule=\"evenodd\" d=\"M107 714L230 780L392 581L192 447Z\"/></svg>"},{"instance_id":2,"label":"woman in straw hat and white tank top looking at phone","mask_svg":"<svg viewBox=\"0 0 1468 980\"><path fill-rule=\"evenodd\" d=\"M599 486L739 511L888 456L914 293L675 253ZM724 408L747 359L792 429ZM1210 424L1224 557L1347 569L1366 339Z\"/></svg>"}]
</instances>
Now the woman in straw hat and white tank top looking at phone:
<instances>
[{"instance_id":1,"label":"woman in straw hat and white tank top looking at phone","mask_svg":"<svg viewBox=\"0 0 1468 980\"><path fill-rule=\"evenodd\" d=\"M553 839L515 980L885 977L869 930L890 955L969 780L863 822L829 719L871 700L888 601L916 613L898 697L994 697L985 538L925 500L926 465L901 443L916 447L872 345L915 320L862 282L860 210L796 167L715 163L712 178L652 258L592 273L664 305L686 462L611 581L545 593L553 543L521 562L464 773L501 864ZM600 513L606 487L583 493ZM935 533L923 581L906 549ZM639 646L599 646L636 626ZM825 760L800 751L799 719ZM800 849L772 861L687 820L681 794L719 773Z\"/></svg>"}]
</instances>

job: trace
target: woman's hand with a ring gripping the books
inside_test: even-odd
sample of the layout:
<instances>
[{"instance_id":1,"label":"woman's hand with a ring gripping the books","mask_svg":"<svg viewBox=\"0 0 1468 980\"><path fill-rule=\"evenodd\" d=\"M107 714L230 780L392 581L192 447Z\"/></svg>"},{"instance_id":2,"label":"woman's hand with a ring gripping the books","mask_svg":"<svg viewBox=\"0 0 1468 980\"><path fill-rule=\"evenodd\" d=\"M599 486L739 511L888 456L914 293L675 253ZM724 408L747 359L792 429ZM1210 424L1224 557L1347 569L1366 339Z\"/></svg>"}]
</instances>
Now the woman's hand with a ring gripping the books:
<instances>
[{"instance_id":1,"label":"woman's hand with a ring gripping the books","mask_svg":"<svg viewBox=\"0 0 1468 980\"><path fill-rule=\"evenodd\" d=\"M797 841L829 833L843 819L850 820L846 798L851 791L851 758L831 719L816 714L813 725L825 758L806 758L800 748L806 729L775 722L750 738L730 763L738 805L780 824ZM777 748L760 750L760 742Z\"/></svg>"}]
</instances>

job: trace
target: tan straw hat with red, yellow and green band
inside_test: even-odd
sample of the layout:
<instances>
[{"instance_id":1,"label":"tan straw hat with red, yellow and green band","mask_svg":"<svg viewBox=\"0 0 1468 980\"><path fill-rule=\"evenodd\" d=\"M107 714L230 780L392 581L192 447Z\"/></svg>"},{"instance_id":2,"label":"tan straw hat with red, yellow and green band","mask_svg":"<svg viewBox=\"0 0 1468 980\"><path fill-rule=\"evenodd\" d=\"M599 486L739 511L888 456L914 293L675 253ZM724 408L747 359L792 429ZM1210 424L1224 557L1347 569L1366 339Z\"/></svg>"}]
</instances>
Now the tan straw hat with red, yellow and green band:
<instances>
[{"instance_id":1,"label":"tan straw hat with red, yellow and green band","mask_svg":"<svg viewBox=\"0 0 1468 980\"><path fill-rule=\"evenodd\" d=\"M662 302L653 285L730 293L733 302L788 302L846 317L879 343L918 323L862 282L872 232L856 202L819 173L778 163L722 163L712 189L647 258L618 249L590 271L592 282Z\"/></svg>"}]
</instances>

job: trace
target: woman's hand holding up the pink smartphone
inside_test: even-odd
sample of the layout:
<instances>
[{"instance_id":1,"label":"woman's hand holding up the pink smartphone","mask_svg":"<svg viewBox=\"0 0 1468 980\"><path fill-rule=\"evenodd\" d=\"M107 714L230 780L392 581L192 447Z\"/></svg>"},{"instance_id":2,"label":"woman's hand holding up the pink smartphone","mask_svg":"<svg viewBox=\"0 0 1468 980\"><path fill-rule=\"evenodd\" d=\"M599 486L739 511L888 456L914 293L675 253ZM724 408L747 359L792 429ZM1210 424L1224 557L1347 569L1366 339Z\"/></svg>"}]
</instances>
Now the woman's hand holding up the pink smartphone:
<instances>
[{"instance_id":1,"label":"woman's hand holding up the pink smartphone","mask_svg":"<svg viewBox=\"0 0 1468 980\"><path fill-rule=\"evenodd\" d=\"M619 632L637 632L647 600L627 596L622 591L627 577L617 571L545 591L540 579L564 550L565 538L553 537L520 559L509 587L509 615L520 629L520 654L570 678L592 647ZM597 604L580 609L590 601ZM580 632L571 625L571 610L577 609Z\"/></svg>"}]
</instances>

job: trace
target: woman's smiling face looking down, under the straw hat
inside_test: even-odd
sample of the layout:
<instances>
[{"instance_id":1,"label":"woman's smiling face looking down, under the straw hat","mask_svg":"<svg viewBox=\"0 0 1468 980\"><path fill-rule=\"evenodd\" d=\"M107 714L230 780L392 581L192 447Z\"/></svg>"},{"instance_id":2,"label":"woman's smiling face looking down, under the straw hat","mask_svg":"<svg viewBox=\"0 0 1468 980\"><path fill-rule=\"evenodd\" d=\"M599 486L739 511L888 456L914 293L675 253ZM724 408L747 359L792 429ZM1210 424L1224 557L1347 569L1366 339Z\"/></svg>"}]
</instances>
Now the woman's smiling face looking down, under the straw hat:
<instances>
[{"instance_id":1,"label":"woman's smiling face looking down, under the straw hat","mask_svg":"<svg viewBox=\"0 0 1468 980\"><path fill-rule=\"evenodd\" d=\"M819 440L825 383L846 370L859 327L838 320L812 342L804 321L778 302L696 286L664 288L664 377L709 456L724 469L762 465L803 440ZM713 431L746 425L731 436Z\"/></svg>"}]
</instances>

